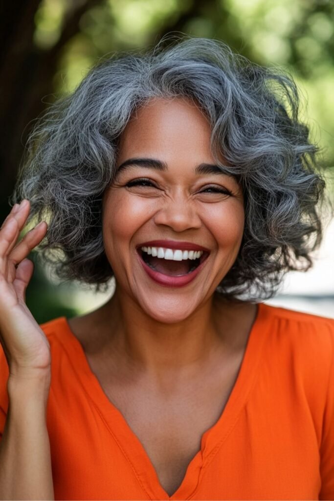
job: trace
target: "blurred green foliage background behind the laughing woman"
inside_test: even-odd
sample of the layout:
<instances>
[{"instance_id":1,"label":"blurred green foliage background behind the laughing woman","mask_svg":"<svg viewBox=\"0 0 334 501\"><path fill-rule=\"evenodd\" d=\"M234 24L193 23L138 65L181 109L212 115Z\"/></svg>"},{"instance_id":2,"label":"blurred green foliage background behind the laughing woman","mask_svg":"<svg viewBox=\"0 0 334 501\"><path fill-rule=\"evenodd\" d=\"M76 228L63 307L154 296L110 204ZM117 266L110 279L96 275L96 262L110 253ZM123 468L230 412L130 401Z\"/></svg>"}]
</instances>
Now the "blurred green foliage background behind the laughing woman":
<instances>
[{"instance_id":1,"label":"blurred green foliage background behind the laughing woman","mask_svg":"<svg viewBox=\"0 0 334 501\"><path fill-rule=\"evenodd\" d=\"M0 219L34 119L72 92L108 53L145 49L181 31L220 39L260 65L282 66L301 95L302 118L322 148L334 200L334 2L332 0L29 0L0 7ZM334 221L307 273L290 273L267 303L334 317ZM39 323L91 311L112 294L52 278L36 255L27 304Z\"/></svg>"}]
</instances>

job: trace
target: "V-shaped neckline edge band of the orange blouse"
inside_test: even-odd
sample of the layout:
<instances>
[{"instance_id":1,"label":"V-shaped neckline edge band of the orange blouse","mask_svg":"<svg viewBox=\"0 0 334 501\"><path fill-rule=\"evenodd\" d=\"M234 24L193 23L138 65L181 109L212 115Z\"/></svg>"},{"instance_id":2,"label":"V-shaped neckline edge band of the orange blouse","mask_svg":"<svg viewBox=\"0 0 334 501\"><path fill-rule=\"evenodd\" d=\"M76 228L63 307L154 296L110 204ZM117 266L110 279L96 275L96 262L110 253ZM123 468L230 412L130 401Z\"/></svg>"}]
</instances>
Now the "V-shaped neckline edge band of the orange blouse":
<instances>
[{"instance_id":1,"label":"V-shaped neckline edge band of the orange blouse","mask_svg":"<svg viewBox=\"0 0 334 501\"><path fill-rule=\"evenodd\" d=\"M255 383L269 309L270 307L264 303L257 305L256 317L248 335L240 369L226 405L215 424L203 433L200 450L189 462L181 484L171 496L161 486L155 468L139 438L121 411L109 400L98 378L92 372L84 349L72 332L67 318L59 318L65 327L62 331L68 338L66 349L71 352L71 359L76 361L74 368L77 369L79 380L150 499L189 499L195 493L204 469L235 426Z\"/></svg>"}]
</instances>

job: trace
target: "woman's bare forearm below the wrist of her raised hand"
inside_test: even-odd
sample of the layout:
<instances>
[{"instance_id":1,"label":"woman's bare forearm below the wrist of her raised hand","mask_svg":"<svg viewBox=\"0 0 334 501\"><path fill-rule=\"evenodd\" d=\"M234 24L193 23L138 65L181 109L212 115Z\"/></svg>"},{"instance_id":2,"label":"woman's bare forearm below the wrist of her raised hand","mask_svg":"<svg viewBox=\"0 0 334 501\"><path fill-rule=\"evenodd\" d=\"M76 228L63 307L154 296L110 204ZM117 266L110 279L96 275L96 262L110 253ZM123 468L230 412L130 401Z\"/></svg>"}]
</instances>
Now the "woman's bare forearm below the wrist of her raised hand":
<instances>
[{"instance_id":1,"label":"woman's bare forearm below the wrist of her raised hand","mask_svg":"<svg viewBox=\"0 0 334 501\"><path fill-rule=\"evenodd\" d=\"M0 499L54 499L46 424L48 378L9 381L0 441Z\"/></svg>"}]
</instances>

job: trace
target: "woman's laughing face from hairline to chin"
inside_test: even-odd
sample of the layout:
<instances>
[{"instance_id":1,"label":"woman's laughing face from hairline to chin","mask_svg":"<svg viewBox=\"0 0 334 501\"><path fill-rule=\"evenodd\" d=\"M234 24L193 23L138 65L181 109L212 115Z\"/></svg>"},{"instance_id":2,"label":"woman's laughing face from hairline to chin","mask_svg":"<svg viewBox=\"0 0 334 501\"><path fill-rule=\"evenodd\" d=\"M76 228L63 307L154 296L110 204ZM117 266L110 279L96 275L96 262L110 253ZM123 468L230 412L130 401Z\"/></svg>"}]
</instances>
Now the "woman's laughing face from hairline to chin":
<instances>
[{"instance_id":1,"label":"woman's laughing face from hairline to chin","mask_svg":"<svg viewBox=\"0 0 334 501\"><path fill-rule=\"evenodd\" d=\"M150 101L123 132L119 170L104 195L117 290L163 323L184 320L210 299L241 244L241 188L214 169L210 134L191 101Z\"/></svg>"}]
</instances>

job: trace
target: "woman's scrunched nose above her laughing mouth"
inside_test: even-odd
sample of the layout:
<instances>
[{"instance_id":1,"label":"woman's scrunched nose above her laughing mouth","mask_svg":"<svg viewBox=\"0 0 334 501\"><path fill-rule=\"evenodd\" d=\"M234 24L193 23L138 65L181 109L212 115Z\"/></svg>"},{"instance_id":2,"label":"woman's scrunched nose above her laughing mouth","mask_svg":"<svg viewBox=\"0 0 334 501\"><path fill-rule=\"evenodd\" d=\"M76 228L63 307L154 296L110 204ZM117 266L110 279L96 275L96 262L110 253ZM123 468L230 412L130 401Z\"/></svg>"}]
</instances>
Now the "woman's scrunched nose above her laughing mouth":
<instances>
[{"instance_id":1,"label":"woman's scrunched nose above her laughing mouth","mask_svg":"<svg viewBox=\"0 0 334 501\"><path fill-rule=\"evenodd\" d=\"M201 226L196 207L184 195L165 199L153 219L155 224L169 226L174 231L185 231Z\"/></svg>"}]
</instances>

